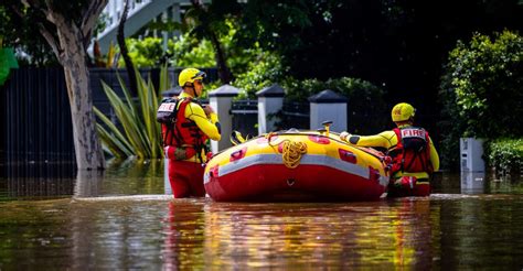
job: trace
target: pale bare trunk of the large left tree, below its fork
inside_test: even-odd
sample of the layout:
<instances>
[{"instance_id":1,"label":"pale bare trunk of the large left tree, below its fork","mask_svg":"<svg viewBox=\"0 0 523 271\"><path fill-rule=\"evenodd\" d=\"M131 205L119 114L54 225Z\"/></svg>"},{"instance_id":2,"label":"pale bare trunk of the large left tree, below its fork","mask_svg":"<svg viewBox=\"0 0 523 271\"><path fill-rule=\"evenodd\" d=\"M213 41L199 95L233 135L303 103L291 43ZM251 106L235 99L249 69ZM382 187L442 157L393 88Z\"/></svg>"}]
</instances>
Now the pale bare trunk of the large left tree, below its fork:
<instances>
[{"instance_id":1,"label":"pale bare trunk of the large left tree, below its fork","mask_svg":"<svg viewBox=\"0 0 523 271\"><path fill-rule=\"evenodd\" d=\"M78 170L105 167L102 144L96 132L86 51L81 29L54 14L73 121L73 137Z\"/></svg>"}]
</instances>

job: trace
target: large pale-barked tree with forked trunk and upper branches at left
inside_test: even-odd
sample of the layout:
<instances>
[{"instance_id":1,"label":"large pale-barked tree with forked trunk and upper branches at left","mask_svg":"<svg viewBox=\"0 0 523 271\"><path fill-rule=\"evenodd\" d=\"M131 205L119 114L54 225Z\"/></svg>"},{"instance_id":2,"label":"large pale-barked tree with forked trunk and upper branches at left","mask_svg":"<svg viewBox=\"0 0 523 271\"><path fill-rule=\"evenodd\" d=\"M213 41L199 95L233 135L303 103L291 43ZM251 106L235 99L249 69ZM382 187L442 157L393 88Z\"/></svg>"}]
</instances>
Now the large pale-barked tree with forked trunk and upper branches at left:
<instances>
[{"instance_id":1,"label":"large pale-barked tree with forked trunk and upper branches at left","mask_svg":"<svg viewBox=\"0 0 523 271\"><path fill-rule=\"evenodd\" d=\"M108 0L23 0L12 1L12 10L31 20L64 68L71 105L76 164L79 170L104 169L102 144L96 133L86 47L102 10Z\"/></svg>"}]
</instances>

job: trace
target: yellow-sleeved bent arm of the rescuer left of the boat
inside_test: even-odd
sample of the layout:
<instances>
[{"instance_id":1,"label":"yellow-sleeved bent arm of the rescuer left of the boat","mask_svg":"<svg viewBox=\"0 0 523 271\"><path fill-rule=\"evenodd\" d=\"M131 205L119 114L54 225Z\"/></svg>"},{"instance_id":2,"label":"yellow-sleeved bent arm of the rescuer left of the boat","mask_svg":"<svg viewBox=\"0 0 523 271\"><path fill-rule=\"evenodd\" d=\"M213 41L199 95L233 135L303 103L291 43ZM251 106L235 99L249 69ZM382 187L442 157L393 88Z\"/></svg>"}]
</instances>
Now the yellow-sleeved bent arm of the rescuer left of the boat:
<instances>
[{"instance_id":1,"label":"yellow-sleeved bent arm of the rescuer left of the boat","mask_svg":"<svg viewBox=\"0 0 523 271\"><path fill-rule=\"evenodd\" d=\"M220 134L220 122L216 113L210 113L207 119L205 111L203 111L203 108L200 105L190 102L185 108L185 118L196 122L198 128L200 128L200 130L202 130L202 132L210 139L218 141L222 138Z\"/></svg>"}]
</instances>

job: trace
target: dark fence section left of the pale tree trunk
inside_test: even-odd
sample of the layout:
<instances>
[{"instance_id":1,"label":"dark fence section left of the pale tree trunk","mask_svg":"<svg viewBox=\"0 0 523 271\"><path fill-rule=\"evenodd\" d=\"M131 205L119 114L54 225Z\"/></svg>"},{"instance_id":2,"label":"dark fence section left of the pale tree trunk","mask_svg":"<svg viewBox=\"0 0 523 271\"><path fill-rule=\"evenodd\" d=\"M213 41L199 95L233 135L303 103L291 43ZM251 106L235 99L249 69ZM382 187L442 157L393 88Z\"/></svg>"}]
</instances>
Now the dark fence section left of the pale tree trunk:
<instances>
[{"instance_id":1,"label":"dark fence section left of the pale tree trunk","mask_svg":"<svg viewBox=\"0 0 523 271\"><path fill-rule=\"evenodd\" d=\"M1 90L2 164L70 163L74 165L73 126L62 68L13 71ZM19 169L25 172L23 169Z\"/></svg>"}]
</instances>

